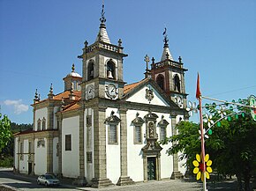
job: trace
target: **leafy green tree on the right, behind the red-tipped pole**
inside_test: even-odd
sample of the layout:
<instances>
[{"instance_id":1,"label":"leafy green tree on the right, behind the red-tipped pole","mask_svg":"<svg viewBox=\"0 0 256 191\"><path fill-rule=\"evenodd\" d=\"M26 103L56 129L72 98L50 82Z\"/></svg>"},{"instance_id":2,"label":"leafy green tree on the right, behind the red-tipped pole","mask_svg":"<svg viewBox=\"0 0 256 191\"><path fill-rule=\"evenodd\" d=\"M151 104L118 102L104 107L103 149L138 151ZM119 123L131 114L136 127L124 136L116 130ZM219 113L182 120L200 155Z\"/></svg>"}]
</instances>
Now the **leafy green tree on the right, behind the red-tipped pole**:
<instances>
[{"instance_id":1,"label":"leafy green tree on the right, behind the red-tipped pole","mask_svg":"<svg viewBox=\"0 0 256 191\"><path fill-rule=\"evenodd\" d=\"M207 107L207 110L213 114L214 121L220 118L215 104ZM234 112L230 107L227 114L230 116L223 119L218 126L215 125L212 128L213 134L206 139L206 153L210 155L213 160L212 167L218 173L236 175L240 189L241 180L245 180L245 190L250 190L250 179L256 173L256 122L252 121L245 108L238 107ZM173 143L168 150L169 154L182 151L184 154L180 159L186 158L186 166L192 170L192 160L200 153L200 125L183 121L176 128L179 135L171 136L162 143Z\"/></svg>"}]
</instances>

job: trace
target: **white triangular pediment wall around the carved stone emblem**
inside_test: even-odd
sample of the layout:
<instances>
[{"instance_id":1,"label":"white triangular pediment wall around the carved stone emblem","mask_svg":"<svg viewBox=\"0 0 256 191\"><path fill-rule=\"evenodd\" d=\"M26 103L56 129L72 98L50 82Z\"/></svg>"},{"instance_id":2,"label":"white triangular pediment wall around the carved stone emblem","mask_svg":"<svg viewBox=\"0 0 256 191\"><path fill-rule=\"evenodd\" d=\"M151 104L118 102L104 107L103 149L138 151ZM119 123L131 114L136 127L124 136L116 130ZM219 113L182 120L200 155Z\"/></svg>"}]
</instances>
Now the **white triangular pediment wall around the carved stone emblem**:
<instances>
[{"instance_id":1,"label":"white triangular pediment wall around the carved stone emblem","mask_svg":"<svg viewBox=\"0 0 256 191\"><path fill-rule=\"evenodd\" d=\"M132 97L127 99L127 101L148 104L148 100L145 96L146 90L149 88L153 89L154 92L154 99L152 99L150 102L152 105L169 107L169 104L164 99L162 99L162 96L157 91L155 91L154 88L149 84L147 86L144 86L141 90L139 90L139 92L136 92L134 95L132 95Z\"/></svg>"}]
</instances>

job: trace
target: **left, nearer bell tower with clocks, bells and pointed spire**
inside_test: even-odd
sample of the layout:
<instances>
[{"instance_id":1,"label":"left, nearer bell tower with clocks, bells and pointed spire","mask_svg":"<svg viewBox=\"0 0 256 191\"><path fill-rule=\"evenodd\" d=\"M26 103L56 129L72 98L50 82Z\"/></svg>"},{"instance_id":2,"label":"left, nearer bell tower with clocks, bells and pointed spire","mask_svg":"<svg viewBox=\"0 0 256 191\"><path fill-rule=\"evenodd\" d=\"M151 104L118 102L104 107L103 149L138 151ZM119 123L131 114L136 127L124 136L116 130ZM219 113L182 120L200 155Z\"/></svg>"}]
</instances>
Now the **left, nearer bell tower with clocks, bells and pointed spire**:
<instances>
[{"instance_id":1,"label":"left, nearer bell tower with clocks, bells and pointed spire","mask_svg":"<svg viewBox=\"0 0 256 191\"><path fill-rule=\"evenodd\" d=\"M120 99L124 93L122 40L111 44L106 30L104 4L100 30L93 44L86 41L83 54L82 99Z\"/></svg>"}]
</instances>

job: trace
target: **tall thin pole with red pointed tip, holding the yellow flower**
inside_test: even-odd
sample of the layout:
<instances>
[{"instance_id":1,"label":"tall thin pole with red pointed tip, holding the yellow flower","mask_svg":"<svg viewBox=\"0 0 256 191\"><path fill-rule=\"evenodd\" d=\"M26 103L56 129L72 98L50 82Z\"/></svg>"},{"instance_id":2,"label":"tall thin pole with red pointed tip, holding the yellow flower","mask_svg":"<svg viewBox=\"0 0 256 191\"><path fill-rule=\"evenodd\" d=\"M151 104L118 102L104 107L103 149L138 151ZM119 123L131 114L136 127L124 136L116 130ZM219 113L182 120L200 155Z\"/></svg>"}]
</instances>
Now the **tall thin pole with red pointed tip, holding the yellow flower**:
<instances>
[{"instance_id":1,"label":"tall thin pole with red pointed tip, holding the yellow flower","mask_svg":"<svg viewBox=\"0 0 256 191\"><path fill-rule=\"evenodd\" d=\"M201 158L203 164L203 190L207 191L207 177L206 177L206 165L205 165L205 133L204 133L204 123L203 123L203 114L202 114L202 96L200 92L200 74L198 73L198 80L197 80L197 91L196 91L196 98L199 99L200 102L200 131L201 131Z\"/></svg>"}]
</instances>

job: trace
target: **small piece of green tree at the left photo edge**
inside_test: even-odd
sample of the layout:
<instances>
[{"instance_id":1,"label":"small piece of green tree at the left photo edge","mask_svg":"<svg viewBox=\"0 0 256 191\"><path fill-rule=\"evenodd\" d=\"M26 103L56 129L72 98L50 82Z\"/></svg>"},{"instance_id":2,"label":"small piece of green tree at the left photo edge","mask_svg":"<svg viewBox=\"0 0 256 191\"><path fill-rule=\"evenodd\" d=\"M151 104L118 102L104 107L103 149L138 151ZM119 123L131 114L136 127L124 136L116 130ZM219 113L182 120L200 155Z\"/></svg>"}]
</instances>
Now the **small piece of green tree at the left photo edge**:
<instances>
[{"instance_id":1,"label":"small piece of green tree at the left photo edge","mask_svg":"<svg viewBox=\"0 0 256 191\"><path fill-rule=\"evenodd\" d=\"M11 140L11 121L6 115L2 119L0 113L0 152L6 147L7 143Z\"/></svg>"}]
</instances>

